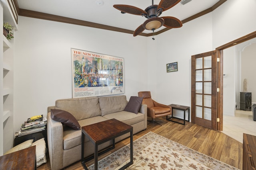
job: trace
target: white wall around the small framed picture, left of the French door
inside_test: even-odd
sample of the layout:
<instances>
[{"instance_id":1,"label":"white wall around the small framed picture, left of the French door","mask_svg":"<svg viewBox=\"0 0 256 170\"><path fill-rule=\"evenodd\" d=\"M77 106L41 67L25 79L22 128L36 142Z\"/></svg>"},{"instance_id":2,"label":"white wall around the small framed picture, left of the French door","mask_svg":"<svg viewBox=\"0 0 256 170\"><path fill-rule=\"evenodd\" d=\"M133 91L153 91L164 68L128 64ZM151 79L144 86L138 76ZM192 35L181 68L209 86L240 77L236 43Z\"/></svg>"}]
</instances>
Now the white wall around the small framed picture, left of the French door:
<instances>
[{"instance_id":1,"label":"white wall around the small framed picture, left of the French door","mask_svg":"<svg viewBox=\"0 0 256 170\"><path fill-rule=\"evenodd\" d=\"M181 28L148 38L148 89L162 104L191 106L191 56L212 51L212 14L206 14ZM156 52L152 52L152 47ZM166 64L178 62L178 71L166 72ZM183 111L174 110L176 117ZM187 118L186 118L187 119Z\"/></svg>"}]
</instances>

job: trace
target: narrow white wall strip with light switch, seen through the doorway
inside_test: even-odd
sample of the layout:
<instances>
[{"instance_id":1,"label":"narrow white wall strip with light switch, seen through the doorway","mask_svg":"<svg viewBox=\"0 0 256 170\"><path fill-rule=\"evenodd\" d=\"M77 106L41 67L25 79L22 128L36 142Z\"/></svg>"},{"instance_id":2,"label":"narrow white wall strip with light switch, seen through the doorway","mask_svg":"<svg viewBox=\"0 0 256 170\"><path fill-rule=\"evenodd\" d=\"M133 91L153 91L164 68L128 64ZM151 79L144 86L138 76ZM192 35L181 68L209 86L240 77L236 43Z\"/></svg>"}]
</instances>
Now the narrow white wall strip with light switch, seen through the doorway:
<instances>
[{"instance_id":1,"label":"narrow white wall strip with light switch, seen through the doorway","mask_svg":"<svg viewBox=\"0 0 256 170\"><path fill-rule=\"evenodd\" d=\"M236 47L223 50L223 115L235 115L236 109Z\"/></svg>"}]
</instances>

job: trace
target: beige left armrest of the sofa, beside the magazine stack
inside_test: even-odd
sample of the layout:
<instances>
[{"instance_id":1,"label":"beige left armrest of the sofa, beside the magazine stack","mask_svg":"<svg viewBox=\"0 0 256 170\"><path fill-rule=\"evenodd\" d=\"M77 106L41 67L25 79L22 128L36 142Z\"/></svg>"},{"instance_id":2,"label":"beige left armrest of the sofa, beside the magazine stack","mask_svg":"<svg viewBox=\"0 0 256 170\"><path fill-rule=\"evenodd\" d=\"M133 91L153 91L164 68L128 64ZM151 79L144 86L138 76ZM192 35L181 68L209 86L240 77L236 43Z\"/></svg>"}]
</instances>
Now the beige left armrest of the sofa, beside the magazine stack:
<instances>
[{"instance_id":1,"label":"beige left armrest of the sofa, beside the magazine stack","mask_svg":"<svg viewBox=\"0 0 256 170\"><path fill-rule=\"evenodd\" d=\"M47 114L47 141L52 170L60 170L63 166L63 125Z\"/></svg>"}]
</instances>

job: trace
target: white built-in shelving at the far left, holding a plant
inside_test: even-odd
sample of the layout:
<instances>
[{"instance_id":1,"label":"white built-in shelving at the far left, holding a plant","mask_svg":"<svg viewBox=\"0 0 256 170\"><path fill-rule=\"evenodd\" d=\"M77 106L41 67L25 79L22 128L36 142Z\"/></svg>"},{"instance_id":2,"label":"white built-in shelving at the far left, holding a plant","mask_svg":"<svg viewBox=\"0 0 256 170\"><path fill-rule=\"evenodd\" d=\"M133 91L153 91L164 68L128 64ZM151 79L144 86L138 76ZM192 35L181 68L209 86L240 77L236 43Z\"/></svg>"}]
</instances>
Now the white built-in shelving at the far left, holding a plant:
<instances>
[{"instance_id":1,"label":"white built-in shelving at the far left, holding a plant","mask_svg":"<svg viewBox=\"0 0 256 170\"><path fill-rule=\"evenodd\" d=\"M0 0L0 25L8 22L14 27L12 33L18 30L18 13L14 0ZM13 84L14 84L14 39L8 40L3 34L0 36L0 155L13 147ZM1 169L1 168L0 168Z\"/></svg>"}]
</instances>

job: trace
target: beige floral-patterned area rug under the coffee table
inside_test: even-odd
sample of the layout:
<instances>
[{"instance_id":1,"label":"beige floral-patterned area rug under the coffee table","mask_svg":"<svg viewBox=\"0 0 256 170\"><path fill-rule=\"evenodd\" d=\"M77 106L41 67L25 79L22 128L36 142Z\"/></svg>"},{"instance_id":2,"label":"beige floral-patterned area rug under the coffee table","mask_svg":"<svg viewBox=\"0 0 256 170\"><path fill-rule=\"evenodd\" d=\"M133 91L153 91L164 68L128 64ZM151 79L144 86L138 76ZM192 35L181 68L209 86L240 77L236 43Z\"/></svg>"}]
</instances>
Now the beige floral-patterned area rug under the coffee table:
<instances>
[{"instance_id":1,"label":"beige floral-patterned area rug under the coffee table","mask_svg":"<svg viewBox=\"0 0 256 170\"><path fill-rule=\"evenodd\" d=\"M133 147L133 164L126 170L238 170L153 132L134 141ZM98 169L118 170L127 162L130 145L100 160Z\"/></svg>"}]
</instances>

